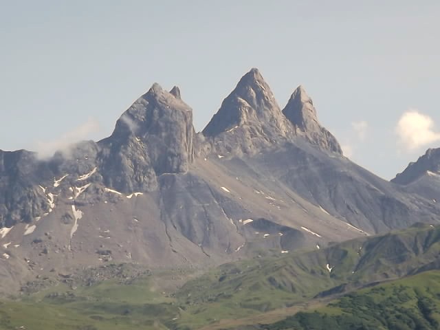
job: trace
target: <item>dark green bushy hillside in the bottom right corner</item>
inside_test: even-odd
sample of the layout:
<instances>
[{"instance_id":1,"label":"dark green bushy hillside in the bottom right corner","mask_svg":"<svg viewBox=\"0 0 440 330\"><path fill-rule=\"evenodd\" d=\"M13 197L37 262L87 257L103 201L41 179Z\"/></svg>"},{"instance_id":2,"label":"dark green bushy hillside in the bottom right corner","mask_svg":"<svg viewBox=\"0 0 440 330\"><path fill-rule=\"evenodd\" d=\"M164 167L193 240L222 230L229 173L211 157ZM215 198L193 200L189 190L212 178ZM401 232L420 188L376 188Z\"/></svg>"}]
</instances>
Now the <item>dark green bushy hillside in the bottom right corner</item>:
<instances>
[{"instance_id":1,"label":"dark green bushy hillside in the bottom right corner","mask_svg":"<svg viewBox=\"0 0 440 330\"><path fill-rule=\"evenodd\" d=\"M440 272L423 272L353 292L313 312L300 312L267 330L437 330Z\"/></svg>"}]
</instances>

